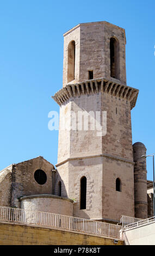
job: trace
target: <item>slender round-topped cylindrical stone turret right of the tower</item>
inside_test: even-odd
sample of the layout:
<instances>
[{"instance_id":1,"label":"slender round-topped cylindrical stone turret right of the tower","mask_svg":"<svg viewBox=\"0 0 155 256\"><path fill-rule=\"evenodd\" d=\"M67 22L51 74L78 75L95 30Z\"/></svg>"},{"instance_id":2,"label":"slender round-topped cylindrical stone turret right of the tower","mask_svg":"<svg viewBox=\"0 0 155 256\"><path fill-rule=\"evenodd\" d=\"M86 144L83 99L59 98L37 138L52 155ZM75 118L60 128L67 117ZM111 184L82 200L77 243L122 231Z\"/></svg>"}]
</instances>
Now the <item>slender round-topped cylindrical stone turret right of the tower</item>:
<instances>
[{"instance_id":1,"label":"slender round-topped cylindrical stone turret right of the tower","mask_svg":"<svg viewBox=\"0 0 155 256\"><path fill-rule=\"evenodd\" d=\"M133 144L134 159L134 205L135 217L147 218L147 178L146 178L146 155L145 145L141 142Z\"/></svg>"}]
</instances>

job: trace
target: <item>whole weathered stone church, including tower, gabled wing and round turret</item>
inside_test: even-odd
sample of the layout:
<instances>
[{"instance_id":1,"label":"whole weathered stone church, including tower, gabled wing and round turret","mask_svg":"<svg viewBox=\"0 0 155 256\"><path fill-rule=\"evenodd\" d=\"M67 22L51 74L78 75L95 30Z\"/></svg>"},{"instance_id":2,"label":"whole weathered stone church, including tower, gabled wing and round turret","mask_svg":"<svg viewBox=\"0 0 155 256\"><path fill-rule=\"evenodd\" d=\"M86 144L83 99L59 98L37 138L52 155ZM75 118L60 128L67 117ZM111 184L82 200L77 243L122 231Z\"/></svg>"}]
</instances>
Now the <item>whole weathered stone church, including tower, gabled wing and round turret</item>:
<instances>
[{"instance_id":1,"label":"whole weathered stone church, including tower, gabled wing and round turret","mask_svg":"<svg viewBox=\"0 0 155 256\"><path fill-rule=\"evenodd\" d=\"M142 143L132 146L131 109L139 90L126 84L125 47L125 30L105 21L81 23L64 34L63 88L53 96L60 106L57 171L41 156L5 168L0 172L0 205L19 208L18 199L29 196L23 208L50 212L54 205L55 213L115 223L122 215L147 218L148 200L152 214L146 160L140 157L146 148ZM103 123L96 113L105 114ZM96 124L104 127L102 132ZM34 179L38 169L46 173L45 184ZM80 209L84 176L86 207ZM76 203L49 199L53 193Z\"/></svg>"}]
</instances>

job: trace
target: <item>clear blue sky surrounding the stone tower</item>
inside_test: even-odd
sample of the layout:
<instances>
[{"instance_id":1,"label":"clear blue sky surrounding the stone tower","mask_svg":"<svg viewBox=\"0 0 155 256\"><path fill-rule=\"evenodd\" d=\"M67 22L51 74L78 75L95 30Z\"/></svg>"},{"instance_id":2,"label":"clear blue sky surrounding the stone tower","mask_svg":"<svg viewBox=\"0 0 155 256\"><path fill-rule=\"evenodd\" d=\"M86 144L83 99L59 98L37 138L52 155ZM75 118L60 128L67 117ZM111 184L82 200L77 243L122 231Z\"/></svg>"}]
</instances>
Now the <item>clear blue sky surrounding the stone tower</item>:
<instances>
[{"instance_id":1,"label":"clear blue sky surrounding the stone tower","mask_svg":"<svg viewBox=\"0 0 155 256\"><path fill-rule=\"evenodd\" d=\"M63 33L78 23L108 21L126 29L128 86L139 89L132 110L133 143L154 148L154 0L0 1L0 169L39 155L57 163L58 131L48 130L51 99L62 87ZM152 157L147 160L152 179Z\"/></svg>"}]
</instances>

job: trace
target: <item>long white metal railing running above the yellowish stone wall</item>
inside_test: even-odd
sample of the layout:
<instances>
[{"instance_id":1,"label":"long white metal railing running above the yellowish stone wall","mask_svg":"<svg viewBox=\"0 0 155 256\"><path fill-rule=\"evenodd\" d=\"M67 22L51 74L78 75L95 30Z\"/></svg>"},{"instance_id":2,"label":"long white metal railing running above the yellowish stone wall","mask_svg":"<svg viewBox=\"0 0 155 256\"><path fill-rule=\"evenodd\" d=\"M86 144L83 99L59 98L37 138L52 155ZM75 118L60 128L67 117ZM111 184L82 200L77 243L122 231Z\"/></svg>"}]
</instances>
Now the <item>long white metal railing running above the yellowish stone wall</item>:
<instances>
[{"instance_id":1,"label":"long white metal railing running above the yellowish stone wall","mask_svg":"<svg viewBox=\"0 0 155 256\"><path fill-rule=\"evenodd\" d=\"M0 206L0 221L36 224L84 233L120 237L121 225L86 220L83 218L52 214L50 212L29 211Z\"/></svg>"}]
</instances>

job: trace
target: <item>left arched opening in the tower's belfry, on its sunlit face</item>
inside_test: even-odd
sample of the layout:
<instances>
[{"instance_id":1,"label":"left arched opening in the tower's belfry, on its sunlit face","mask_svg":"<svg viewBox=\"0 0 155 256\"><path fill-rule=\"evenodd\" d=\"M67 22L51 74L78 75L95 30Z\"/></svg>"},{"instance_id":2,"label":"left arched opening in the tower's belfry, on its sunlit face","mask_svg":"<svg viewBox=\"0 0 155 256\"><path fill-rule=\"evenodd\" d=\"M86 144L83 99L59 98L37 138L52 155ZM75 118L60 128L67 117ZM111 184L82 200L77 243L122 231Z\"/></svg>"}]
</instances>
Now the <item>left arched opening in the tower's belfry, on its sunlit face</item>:
<instances>
[{"instance_id":1,"label":"left arched opening in the tower's belfry, on its sunlit face","mask_svg":"<svg viewBox=\"0 0 155 256\"><path fill-rule=\"evenodd\" d=\"M76 44L75 41L71 41L68 46L68 70L67 70L67 82L75 80L75 54Z\"/></svg>"}]
</instances>

